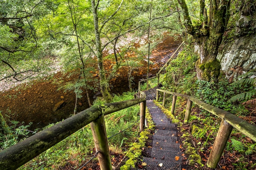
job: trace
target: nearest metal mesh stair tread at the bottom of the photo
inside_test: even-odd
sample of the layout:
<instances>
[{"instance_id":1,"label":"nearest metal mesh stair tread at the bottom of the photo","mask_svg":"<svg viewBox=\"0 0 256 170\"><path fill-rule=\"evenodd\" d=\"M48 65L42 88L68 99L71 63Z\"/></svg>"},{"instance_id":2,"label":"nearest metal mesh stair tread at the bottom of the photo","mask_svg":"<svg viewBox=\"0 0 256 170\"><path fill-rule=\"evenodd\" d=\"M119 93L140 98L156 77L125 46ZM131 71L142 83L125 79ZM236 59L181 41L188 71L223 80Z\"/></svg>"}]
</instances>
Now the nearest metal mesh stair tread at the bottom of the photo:
<instances>
[{"instance_id":1,"label":"nearest metal mesh stair tread at the bottom of the photo","mask_svg":"<svg viewBox=\"0 0 256 170\"><path fill-rule=\"evenodd\" d=\"M153 159L144 157L143 162L147 165L144 167L146 170L180 170L180 163L168 162L162 159ZM162 163L162 167L159 164Z\"/></svg>"}]
</instances>

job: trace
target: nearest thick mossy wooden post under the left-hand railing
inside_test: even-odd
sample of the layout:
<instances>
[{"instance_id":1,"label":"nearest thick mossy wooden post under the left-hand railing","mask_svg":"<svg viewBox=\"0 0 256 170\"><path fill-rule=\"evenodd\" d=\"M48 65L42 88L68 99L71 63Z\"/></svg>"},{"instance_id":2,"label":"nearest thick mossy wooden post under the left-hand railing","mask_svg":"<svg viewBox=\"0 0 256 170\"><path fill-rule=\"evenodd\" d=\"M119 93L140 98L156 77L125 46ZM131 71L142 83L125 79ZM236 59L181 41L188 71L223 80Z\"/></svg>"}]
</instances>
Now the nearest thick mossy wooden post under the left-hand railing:
<instances>
[{"instance_id":1,"label":"nearest thick mossy wooden post under the left-hand railing","mask_svg":"<svg viewBox=\"0 0 256 170\"><path fill-rule=\"evenodd\" d=\"M112 170L104 115L102 114L99 119L92 121L90 126L96 151L99 151L99 166L101 170Z\"/></svg>"}]
</instances>

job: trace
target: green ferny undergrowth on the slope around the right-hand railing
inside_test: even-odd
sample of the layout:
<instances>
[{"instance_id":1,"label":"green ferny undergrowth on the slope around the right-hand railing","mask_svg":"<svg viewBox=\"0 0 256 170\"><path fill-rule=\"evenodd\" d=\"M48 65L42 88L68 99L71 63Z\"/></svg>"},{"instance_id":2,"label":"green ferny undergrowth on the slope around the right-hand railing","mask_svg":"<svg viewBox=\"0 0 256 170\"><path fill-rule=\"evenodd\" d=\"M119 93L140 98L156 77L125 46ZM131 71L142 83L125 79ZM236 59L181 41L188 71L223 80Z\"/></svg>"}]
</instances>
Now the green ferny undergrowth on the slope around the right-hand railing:
<instances>
[{"instance_id":1,"label":"green ferny undergrowth on the slope around the right-hand railing","mask_svg":"<svg viewBox=\"0 0 256 170\"><path fill-rule=\"evenodd\" d=\"M172 60L170 65L166 68L163 79L160 79L163 84L162 89L191 95L207 104L240 116L245 120L247 120L246 117L251 117L252 112L249 112L242 102L247 104L249 102L246 103L245 101L255 98L255 95L252 94L255 89L255 78L243 79L248 76L241 76L240 78L242 79L233 84L229 83L224 75L219 77L218 83L197 80L195 72L195 61L197 59L198 57L193 52L193 48L185 46L184 51L179 53L177 58ZM248 75L251 75L251 73ZM241 97L243 94L248 94L247 92L249 92L249 95ZM231 99L233 96L235 96L235 98ZM168 95L166 98L165 106L168 110L171 110L172 98L173 95ZM160 100L161 99L162 97L160 97ZM250 101L250 104L251 103L254 102ZM175 118L183 121L185 109L186 100L177 97ZM250 123L255 124L255 121L253 122L254 119L249 120ZM198 165L203 164L202 169L207 169L207 159L218 132L220 121L221 119L218 117L193 104L189 121L182 125L182 128L186 131L184 132L185 136L189 136L193 139L192 143L194 143L197 152L201 156L202 162L198 162ZM187 143L187 147L193 148L193 146L189 146ZM217 169L255 169L255 146L256 144L252 139L249 139L241 132L234 129L231 132ZM194 151L192 152L194 153ZM200 168L200 166L198 168Z\"/></svg>"}]
</instances>

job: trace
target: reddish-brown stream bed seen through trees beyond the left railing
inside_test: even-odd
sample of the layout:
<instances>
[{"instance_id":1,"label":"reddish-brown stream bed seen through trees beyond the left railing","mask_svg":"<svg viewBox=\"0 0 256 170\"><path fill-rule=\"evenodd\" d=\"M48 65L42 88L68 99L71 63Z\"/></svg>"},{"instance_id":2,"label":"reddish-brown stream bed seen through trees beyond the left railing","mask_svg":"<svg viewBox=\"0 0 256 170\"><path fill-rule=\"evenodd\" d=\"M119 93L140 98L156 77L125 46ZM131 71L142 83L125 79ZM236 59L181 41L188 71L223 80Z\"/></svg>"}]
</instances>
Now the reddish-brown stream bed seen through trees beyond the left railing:
<instances>
[{"instance_id":1,"label":"reddish-brown stream bed seen through trees beyond the left railing","mask_svg":"<svg viewBox=\"0 0 256 170\"><path fill-rule=\"evenodd\" d=\"M151 59L154 64L150 65L150 75L157 73L159 68L163 63L159 61L167 54L173 52L177 48L177 42L174 42L172 38L166 38L160 43L151 55ZM136 54L129 51L130 57L136 57ZM99 77L97 76L97 63L95 63L95 73L94 78L96 82ZM112 61L106 59L104 60L104 67L108 73L112 66L110 65ZM92 65L93 65L92 64ZM142 78L146 78L147 73L147 62L142 62L143 66L134 69L132 76L134 77L133 88L137 88L138 81ZM111 92L112 93L123 93L129 91L128 88L128 76L127 67L121 67L117 71L117 75L110 80ZM54 123L56 121L61 121L72 115L74 111L75 104L75 93L73 91L63 91L57 90L62 84L57 85L54 80L61 79L63 82L72 82L77 79L76 75L67 76L63 73L58 72L52 78L45 78L42 80L37 80L29 82L26 84L21 84L5 92L0 92L0 110L2 110L2 115L5 119L24 121L25 124L33 122L31 129L42 128L49 123ZM90 91L90 100L93 102L95 97L99 95L99 89L96 83L92 83L94 86L94 91ZM78 111L85 110L89 107L87 97L79 99ZM61 105L56 110L58 104ZM55 108L54 108L55 107ZM55 111L54 111L55 110Z\"/></svg>"}]
</instances>

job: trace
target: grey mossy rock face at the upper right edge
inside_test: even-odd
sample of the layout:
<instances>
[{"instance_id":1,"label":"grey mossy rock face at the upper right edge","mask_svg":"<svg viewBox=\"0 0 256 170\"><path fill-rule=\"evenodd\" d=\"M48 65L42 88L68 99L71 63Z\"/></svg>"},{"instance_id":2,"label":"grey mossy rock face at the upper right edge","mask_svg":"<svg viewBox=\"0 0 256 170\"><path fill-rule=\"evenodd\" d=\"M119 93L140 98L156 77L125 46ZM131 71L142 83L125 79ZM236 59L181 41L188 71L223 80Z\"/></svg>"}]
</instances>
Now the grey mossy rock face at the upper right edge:
<instances>
[{"instance_id":1,"label":"grey mossy rock face at the upper right edge","mask_svg":"<svg viewBox=\"0 0 256 170\"><path fill-rule=\"evenodd\" d=\"M231 15L219 48L217 58L229 81L256 68L256 11L251 8Z\"/></svg>"}]
</instances>

